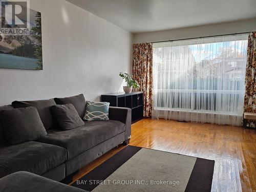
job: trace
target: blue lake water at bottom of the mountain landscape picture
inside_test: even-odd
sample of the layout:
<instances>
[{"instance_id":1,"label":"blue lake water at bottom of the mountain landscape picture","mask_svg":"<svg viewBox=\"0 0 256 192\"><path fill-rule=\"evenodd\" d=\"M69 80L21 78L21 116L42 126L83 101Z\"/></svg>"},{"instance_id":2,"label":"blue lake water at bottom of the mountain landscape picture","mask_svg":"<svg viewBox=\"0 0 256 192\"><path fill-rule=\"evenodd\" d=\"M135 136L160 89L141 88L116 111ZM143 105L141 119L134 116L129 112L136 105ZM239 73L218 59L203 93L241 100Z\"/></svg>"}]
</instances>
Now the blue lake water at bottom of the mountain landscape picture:
<instances>
[{"instance_id":1,"label":"blue lake water at bottom of the mountain landscape picture","mask_svg":"<svg viewBox=\"0 0 256 192\"><path fill-rule=\"evenodd\" d=\"M0 53L0 68L36 70L38 59Z\"/></svg>"}]
</instances>

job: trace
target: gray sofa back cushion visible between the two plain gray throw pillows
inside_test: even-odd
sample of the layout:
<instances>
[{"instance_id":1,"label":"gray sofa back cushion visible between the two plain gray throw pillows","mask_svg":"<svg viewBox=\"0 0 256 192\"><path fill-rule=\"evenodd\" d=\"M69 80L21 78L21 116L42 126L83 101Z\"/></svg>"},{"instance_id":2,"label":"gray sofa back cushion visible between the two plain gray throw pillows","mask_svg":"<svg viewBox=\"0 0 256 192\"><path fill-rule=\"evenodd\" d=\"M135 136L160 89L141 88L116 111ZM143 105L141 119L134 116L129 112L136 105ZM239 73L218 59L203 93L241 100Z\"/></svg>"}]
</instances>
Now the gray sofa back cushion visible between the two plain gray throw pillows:
<instances>
[{"instance_id":1,"label":"gray sofa back cushion visible between the two plain gray throw pillows","mask_svg":"<svg viewBox=\"0 0 256 192\"><path fill-rule=\"evenodd\" d=\"M14 108L27 108L29 106L34 106L39 116L44 124L46 130L50 129L54 125L52 114L50 108L52 105L55 105L53 99L48 100L36 100L36 101L13 101L12 106Z\"/></svg>"}]
</instances>

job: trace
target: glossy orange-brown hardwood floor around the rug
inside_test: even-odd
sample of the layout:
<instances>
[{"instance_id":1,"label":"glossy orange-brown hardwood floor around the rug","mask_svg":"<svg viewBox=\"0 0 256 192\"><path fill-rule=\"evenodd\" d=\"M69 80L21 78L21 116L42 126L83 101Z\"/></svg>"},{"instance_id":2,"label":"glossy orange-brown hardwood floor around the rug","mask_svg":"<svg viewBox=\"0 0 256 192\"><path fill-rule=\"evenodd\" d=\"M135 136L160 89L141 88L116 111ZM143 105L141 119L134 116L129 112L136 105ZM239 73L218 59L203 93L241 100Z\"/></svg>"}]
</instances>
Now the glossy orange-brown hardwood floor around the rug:
<instances>
[{"instance_id":1,"label":"glossy orange-brown hardwood floor around the rug","mask_svg":"<svg viewBox=\"0 0 256 192\"><path fill-rule=\"evenodd\" d=\"M132 125L130 145L215 160L211 191L256 191L255 130L143 119ZM114 148L80 169L73 182L123 147Z\"/></svg>"}]
</instances>

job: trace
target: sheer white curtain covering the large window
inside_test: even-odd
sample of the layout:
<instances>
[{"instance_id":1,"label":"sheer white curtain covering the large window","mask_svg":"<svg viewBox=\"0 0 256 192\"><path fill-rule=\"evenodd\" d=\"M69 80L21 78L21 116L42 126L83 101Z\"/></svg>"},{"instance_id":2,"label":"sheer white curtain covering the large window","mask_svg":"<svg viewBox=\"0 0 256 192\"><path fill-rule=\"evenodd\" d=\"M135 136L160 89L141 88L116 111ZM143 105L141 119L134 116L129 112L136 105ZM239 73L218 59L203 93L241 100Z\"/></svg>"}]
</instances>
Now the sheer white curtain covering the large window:
<instances>
[{"instance_id":1,"label":"sheer white curtain covering the large window","mask_svg":"<svg viewBox=\"0 0 256 192\"><path fill-rule=\"evenodd\" d=\"M153 118L240 126L247 34L153 44Z\"/></svg>"}]
</instances>

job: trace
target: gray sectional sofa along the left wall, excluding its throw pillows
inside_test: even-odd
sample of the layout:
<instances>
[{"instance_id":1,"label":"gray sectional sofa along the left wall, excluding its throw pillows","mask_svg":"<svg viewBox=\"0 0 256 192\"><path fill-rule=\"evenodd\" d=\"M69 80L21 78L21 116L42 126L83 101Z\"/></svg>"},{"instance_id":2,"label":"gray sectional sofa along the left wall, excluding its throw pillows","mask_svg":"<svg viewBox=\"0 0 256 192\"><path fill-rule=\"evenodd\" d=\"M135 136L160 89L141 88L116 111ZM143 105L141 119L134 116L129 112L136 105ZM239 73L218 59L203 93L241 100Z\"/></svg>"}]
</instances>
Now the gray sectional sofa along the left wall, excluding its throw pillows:
<instances>
[{"instance_id":1,"label":"gray sectional sofa along the left wall, excluding its throw pillows","mask_svg":"<svg viewBox=\"0 0 256 192\"><path fill-rule=\"evenodd\" d=\"M51 106L72 103L82 118L86 108L83 95L37 101L14 101L0 111L34 106L47 135L35 141L10 145L0 125L0 178L19 171L34 173L55 181L70 178L84 165L131 137L131 109L110 107L110 120L86 121L72 130L56 127Z\"/></svg>"}]
</instances>

